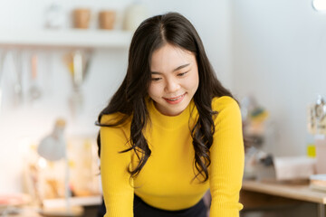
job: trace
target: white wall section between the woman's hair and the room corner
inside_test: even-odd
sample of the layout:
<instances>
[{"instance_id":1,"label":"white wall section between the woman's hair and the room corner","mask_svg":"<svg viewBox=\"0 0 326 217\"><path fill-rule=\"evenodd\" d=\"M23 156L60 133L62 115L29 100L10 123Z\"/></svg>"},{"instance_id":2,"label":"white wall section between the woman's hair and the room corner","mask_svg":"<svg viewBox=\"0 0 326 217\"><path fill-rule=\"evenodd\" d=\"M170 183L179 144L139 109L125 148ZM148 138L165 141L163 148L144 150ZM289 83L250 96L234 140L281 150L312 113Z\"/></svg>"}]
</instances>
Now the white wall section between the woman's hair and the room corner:
<instances>
[{"instance_id":1,"label":"white wall section between the woman's hair and the room corner","mask_svg":"<svg viewBox=\"0 0 326 217\"><path fill-rule=\"evenodd\" d=\"M230 1L143 0L142 2L149 6L151 14L176 11L187 16L204 42L217 78L225 84L225 87L232 89Z\"/></svg>"}]
</instances>

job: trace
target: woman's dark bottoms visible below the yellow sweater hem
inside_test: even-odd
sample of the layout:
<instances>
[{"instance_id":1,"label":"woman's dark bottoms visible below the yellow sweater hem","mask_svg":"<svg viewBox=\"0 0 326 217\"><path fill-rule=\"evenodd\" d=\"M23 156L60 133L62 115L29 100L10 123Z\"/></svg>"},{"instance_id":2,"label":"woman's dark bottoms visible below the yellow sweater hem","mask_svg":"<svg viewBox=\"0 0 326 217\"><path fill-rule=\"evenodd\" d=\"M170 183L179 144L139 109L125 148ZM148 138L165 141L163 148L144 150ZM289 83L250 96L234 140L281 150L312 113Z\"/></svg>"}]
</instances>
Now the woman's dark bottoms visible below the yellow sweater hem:
<instances>
[{"instance_id":1,"label":"woman's dark bottoms visible below the yellow sweater hem","mask_svg":"<svg viewBox=\"0 0 326 217\"><path fill-rule=\"evenodd\" d=\"M104 202L98 212L98 217L102 217L106 212ZM150 206L143 202L139 196L134 195L134 217L206 217L207 208L204 200L201 199L196 205L178 211L166 211Z\"/></svg>"}]
</instances>

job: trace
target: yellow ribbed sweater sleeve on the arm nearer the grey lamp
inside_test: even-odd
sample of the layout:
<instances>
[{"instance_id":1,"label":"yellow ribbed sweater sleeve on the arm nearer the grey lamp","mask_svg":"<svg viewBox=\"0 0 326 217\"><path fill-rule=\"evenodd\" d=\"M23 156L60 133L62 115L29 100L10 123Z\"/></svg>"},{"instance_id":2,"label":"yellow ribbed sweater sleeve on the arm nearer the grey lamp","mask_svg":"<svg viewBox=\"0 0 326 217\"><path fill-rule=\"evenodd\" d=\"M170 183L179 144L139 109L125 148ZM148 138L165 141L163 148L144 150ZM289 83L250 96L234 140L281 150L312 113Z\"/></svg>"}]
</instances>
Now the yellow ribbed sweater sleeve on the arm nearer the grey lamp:
<instances>
[{"instance_id":1,"label":"yellow ribbed sweater sleeve on the arm nearer the grey lamp","mask_svg":"<svg viewBox=\"0 0 326 217\"><path fill-rule=\"evenodd\" d=\"M101 127L100 134L105 217L132 217L134 190L127 171L131 156L130 152L119 153L128 147L126 136L122 128L117 127Z\"/></svg>"}]
</instances>

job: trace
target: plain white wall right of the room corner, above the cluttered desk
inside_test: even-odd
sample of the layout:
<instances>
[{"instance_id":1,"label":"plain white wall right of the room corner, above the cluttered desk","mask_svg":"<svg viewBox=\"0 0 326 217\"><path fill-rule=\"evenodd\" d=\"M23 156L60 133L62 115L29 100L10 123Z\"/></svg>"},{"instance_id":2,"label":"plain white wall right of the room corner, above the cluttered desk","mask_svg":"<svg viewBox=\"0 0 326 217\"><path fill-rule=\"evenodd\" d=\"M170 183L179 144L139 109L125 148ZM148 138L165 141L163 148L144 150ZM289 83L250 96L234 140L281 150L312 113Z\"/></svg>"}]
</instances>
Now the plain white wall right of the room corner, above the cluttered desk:
<instances>
[{"instance_id":1,"label":"plain white wall right of the room corner, above the cluttered desk","mask_svg":"<svg viewBox=\"0 0 326 217\"><path fill-rule=\"evenodd\" d=\"M311 0L233 1L233 84L254 95L276 124L267 150L304 155L306 107L326 94L326 14Z\"/></svg>"}]
</instances>

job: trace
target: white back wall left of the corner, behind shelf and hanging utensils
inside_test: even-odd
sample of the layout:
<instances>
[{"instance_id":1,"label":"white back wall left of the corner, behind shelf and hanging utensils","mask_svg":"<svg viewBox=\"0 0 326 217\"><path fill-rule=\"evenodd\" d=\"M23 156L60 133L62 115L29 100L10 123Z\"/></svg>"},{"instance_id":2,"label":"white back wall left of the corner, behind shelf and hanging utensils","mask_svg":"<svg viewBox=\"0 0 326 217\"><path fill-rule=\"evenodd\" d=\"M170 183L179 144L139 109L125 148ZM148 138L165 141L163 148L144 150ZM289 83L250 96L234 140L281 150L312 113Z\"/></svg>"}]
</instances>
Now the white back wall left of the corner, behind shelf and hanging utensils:
<instances>
[{"instance_id":1,"label":"white back wall left of the corner, behind shelf and hanging utensils","mask_svg":"<svg viewBox=\"0 0 326 217\"><path fill-rule=\"evenodd\" d=\"M43 27L43 13L53 1L50 0L12 0L0 2L0 32L8 28L24 28L28 31ZM56 1L62 4L64 13L69 16L75 6L90 6L93 12L101 8L118 10L122 21L124 8L131 3L125 1L107 0L72 0ZM216 69L218 78L228 88L232 88L230 65L230 11L228 0L166 0L142 1L149 8L149 14L161 14L177 11L185 14L195 24L201 35L206 52ZM19 6L18 6L19 5ZM10 23L8 22L10 20ZM65 28L71 24L67 21ZM96 28L93 21L91 28ZM0 52L3 49L0 48ZM22 191L22 168L24 165L24 143L33 142L37 145L39 139L52 130L55 118L66 118L67 136L91 135L95 137L98 127L94 127L97 115L107 104L112 93L120 85L124 77L127 63L127 49L96 50L91 59L91 68L82 90L85 96L85 107L77 117L72 118L68 107L68 97L72 90L69 73L62 61L66 50L44 51L42 49L24 49L25 53L36 52L42 60L39 73L40 85L43 88L43 98L32 106L28 102L14 107L8 101L9 89L6 90L5 101L0 113L0 193ZM13 69L6 63L6 76L11 77ZM6 83L10 87L9 83Z\"/></svg>"}]
</instances>

